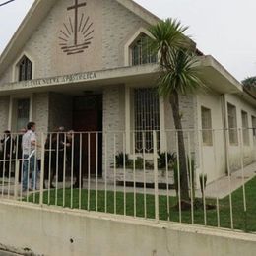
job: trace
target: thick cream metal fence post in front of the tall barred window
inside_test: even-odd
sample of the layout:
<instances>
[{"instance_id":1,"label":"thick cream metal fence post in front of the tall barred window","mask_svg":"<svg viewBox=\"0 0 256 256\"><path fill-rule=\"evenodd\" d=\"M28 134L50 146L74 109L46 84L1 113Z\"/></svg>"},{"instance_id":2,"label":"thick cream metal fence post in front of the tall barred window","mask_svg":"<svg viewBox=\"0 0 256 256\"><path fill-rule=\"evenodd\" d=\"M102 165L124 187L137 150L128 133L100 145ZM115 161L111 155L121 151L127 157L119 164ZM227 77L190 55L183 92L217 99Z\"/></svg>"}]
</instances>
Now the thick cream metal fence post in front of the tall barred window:
<instances>
[{"instance_id":1,"label":"thick cream metal fence post in front of the tall barred window","mask_svg":"<svg viewBox=\"0 0 256 256\"><path fill-rule=\"evenodd\" d=\"M160 220L159 211L159 173L158 173L158 143L157 131L153 131L153 158L154 158L154 188L155 188L155 219Z\"/></svg>"}]
</instances>

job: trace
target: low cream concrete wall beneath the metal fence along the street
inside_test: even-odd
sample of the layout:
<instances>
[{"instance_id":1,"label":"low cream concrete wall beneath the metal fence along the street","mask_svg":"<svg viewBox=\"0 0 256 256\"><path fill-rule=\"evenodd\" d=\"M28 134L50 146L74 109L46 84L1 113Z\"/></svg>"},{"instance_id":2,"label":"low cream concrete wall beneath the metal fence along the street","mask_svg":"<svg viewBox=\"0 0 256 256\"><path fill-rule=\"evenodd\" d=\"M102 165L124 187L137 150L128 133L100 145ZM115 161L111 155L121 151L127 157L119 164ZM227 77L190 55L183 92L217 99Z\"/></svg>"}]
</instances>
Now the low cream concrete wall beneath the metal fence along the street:
<instances>
[{"instance_id":1,"label":"low cream concrete wall beneath the metal fence along the street","mask_svg":"<svg viewBox=\"0 0 256 256\"><path fill-rule=\"evenodd\" d=\"M45 256L254 256L256 236L1 202L0 242Z\"/></svg>"}]
</instances>

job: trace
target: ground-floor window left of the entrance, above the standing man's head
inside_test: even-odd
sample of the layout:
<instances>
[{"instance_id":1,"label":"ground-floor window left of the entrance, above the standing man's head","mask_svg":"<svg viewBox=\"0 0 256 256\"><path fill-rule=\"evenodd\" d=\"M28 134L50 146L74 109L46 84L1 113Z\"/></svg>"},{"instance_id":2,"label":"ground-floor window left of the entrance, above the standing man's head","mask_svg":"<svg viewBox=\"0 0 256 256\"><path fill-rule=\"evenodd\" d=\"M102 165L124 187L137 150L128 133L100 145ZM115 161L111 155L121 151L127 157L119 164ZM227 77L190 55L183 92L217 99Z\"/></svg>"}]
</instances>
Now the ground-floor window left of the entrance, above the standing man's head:
<instances>
[{"instance_id":1,"label":"ground-floor window left of the entrance, above the standing man's head","mask_svg":"<svg viewBox=\"0 0 256 256\"><path fill-rule=\"evenodd\" d=\"M30 119L30 99L17 100L17 131L26 128Z\"/></svg>"}]
</instances>

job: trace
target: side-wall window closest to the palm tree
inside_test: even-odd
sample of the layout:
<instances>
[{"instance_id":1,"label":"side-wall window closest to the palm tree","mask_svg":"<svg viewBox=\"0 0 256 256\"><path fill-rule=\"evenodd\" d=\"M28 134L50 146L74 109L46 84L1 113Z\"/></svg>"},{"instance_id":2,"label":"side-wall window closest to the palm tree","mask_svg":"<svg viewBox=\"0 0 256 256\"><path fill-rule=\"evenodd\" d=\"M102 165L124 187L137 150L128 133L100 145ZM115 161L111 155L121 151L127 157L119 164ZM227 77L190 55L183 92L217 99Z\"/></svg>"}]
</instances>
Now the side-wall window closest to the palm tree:
<instances>
[{"instance_id":1,"label":"side-wall window closest to the palm tree","mask_svg":"<svg viewBox=\"0 0 256 256\"><path fill-rule=\"evenodd\" d=\"M213 146L211 110L202 106L201 119L202 119L203 144L207 146Z\"/></svg>"}]
</instances>

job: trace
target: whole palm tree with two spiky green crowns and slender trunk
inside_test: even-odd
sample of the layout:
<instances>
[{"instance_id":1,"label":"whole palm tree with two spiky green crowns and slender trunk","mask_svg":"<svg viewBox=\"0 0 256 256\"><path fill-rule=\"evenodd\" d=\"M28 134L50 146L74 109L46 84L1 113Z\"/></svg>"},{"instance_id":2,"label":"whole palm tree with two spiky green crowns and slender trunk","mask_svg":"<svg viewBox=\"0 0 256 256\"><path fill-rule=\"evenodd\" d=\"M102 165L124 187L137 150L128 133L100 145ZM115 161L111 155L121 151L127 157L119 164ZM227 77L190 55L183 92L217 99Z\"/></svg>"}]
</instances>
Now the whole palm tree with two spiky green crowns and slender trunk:
<instances>
[{"instance_id":1,"label":"whole palm tree with two spiky green crowns and slender trunk","mask_svg":"<svg viewBox=\"0 0 256 256\"><path fill-rule=\"evenodd\" d=\"M182 202L188 202L190 199L179 96L202 86L196 68L195 47L184 35L187 29L177 20L171 19L160 21L149 29L153 37L151 46L160 56L159 94L169 100L177 131Z\"/></svg>"}]
</instances>

